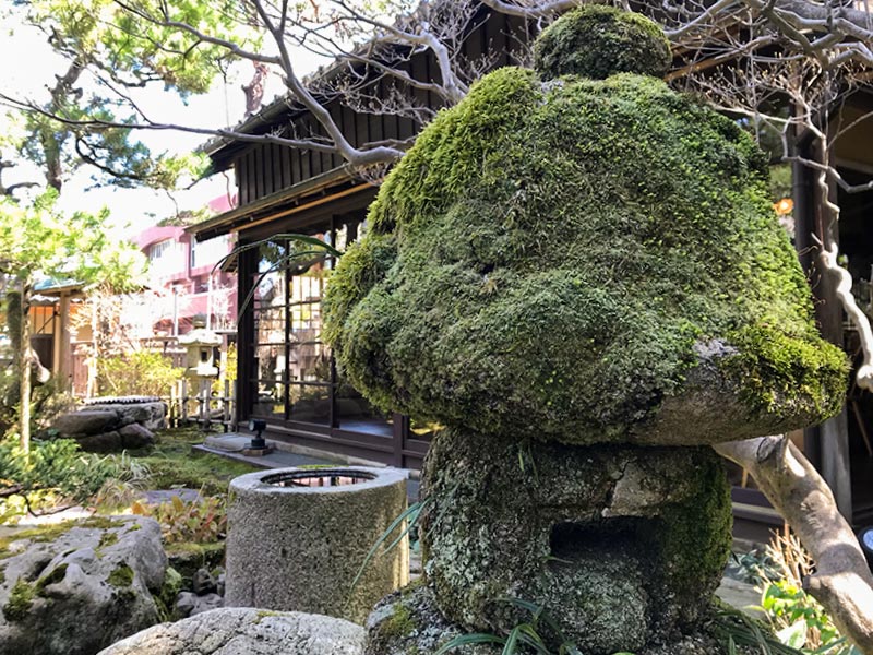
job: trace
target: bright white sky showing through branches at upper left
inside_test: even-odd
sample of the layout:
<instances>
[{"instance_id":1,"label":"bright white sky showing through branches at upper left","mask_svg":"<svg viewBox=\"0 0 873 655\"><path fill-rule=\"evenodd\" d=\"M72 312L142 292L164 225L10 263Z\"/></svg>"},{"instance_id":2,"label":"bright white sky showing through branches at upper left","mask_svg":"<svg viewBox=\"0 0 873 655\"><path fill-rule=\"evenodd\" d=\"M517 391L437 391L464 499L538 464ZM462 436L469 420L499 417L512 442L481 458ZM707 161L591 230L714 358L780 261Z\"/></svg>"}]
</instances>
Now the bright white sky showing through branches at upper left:
<instances>
[{"instance_id":1,"label":"bright white sky showing through branches at upper left","mask_svg":"<svg viewBox=\"0 0 873 655\"><path fill-rule=\"evenodd\" d=\"M23 56L24 55L24 56ZM314 70L320 63L311 56L299 53L296 66L299 74ZM16 62L0 67L0 88L10 96L40 99L47 97L47 88L53 84L53 75L65 70L64 60L56 55L46 43L45 35L35 27L4 24L0 31L0 61ZM232 126L243 118L244 95L240 85L252 76L252 64L240 62L230 71L227 82L218 81L208 94L191 97L187 104L163 86L142 92L137 97L144 111L156 121L191 124L205 128ZM264 99L270 102L282 91L280 82L272 76L266 84ZM12 129L0 107L0 133ZM182 154L191 152L208 140L202 134L177 131L142 131L137 138L153 153L169 152ZM11 158L11 152L3 152ZM44 181L38 168L23 164L3 172L3 183L10 186L19 181ZM179 210L195 210L210 200L228 191L234 191L232 171L213 176L199 182L189 191L179 191L172 199L166 192L147 189L115 189L112 187L93 188L91 175L81 169L64 184L60 206L65 212L96 212L103 206L111 211L111 223L116 235L134 235L154 225L157 221L171 216Z\"/></svg>"}]
</instances>

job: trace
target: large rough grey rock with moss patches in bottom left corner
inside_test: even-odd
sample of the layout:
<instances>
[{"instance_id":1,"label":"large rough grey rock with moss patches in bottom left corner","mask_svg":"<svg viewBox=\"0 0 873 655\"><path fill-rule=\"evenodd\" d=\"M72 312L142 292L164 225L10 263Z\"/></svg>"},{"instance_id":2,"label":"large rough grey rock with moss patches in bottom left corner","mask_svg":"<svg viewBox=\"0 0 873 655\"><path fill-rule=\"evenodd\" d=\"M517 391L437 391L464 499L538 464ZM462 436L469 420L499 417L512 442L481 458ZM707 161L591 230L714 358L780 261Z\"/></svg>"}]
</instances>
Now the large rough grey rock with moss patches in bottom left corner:
<instances>
[{"instance_id":1,"label":"large rough grey rock with moss patches in bottom left corner","mask_svg":"<svg viewBox=\"0 0 873 655\"><path fill-rule=\"evenodd\" d=\"M158 622L167 558L152 519L89 519L9 537L0 558L4 653L93 655Z\"/></svg>"}]
</instances>

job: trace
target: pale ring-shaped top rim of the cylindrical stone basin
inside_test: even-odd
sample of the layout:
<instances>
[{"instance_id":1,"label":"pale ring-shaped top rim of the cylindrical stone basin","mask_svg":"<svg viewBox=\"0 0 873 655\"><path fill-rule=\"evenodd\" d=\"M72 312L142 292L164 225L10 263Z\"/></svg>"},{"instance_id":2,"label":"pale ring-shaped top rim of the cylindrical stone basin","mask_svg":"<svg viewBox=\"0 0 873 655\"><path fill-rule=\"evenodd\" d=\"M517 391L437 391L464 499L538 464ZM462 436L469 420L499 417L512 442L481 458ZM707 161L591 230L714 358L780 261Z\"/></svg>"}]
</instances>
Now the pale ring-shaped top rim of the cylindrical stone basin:
<instances>
[{"instance_id":1,"label":"pale ring-shaped top rim of the cylindrical stone basin","mask_svg":"<svg viewBox=\"0 0 873 655\"><path fill-rule=\"evenodd\" d=\"M299 477L349 476L364 479L352 485L338 485L336 487L283 487L268 481L268 478L280 478L295 474L299 475ZM230 490L237 493L254 492L263 495L355 493L378 487L388 487L408 478L409 475L406 471L391 467L326 466L324 468L308 468L291 466L247 473L230 480Z\"/></svg>"}]
</instances>

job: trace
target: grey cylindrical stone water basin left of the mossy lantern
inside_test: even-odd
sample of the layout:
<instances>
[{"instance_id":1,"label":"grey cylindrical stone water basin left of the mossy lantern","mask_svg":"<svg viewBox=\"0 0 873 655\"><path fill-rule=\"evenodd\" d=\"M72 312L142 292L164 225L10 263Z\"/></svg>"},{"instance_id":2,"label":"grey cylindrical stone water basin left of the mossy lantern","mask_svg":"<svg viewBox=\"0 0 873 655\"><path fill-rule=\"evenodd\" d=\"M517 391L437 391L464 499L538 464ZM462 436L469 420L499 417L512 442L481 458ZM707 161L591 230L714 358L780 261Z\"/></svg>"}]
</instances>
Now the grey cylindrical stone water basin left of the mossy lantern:
<instances>
[{"instance_id":1,"label":"grey cylindrical stone water basin left of the mossy lantern","mask_svg":"<svg viewBox=\"0 0 873 655\"><path fill-rule=\"evenodd\" d=\"M367 555L406 510L406 474L345 466L279 468L230 483L227 607L297 610L362 623L409 582L406 537L395 531L352 582Z\"/></svg>"}]
</instances>

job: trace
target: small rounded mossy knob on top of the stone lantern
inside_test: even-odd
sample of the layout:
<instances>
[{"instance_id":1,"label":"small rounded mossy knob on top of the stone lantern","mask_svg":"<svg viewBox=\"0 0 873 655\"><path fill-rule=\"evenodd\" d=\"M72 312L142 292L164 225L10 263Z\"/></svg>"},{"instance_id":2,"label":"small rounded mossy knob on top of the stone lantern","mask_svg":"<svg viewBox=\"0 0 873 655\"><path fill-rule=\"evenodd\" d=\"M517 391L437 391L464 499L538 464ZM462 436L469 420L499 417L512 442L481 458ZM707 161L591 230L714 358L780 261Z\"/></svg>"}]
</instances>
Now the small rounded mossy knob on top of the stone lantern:
<instances>
[{"instance_id":1,"label":"small rounded mossy knob on top of the stone lantern","mask_svg":"<svg viewBox=\"0 0 873 655\"><path fill-rule=\"evenodd\" d=\"M571 11L534 45L534 67L547 80L571 74L603 80L614 73L662 78L671 61L670 44L657 24L612 7Z\"/></svg>"}]
</instances>

